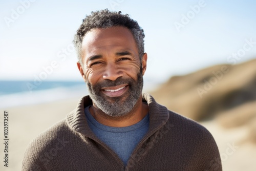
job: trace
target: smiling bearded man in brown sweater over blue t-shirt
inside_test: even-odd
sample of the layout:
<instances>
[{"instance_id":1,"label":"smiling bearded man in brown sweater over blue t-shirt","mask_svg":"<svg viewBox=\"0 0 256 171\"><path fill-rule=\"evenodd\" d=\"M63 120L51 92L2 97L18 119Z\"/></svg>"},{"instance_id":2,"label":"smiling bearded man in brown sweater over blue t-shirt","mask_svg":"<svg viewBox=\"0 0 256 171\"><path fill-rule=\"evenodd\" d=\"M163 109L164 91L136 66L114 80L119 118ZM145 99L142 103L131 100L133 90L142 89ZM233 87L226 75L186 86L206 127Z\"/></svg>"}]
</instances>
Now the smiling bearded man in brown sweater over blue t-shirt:
<instances>
[{"instance_id":1,"label":"smiling bearded man in brown sweater over blue t-shirt","mask_svg":"<svg viewBox=\"0 0 256 171\"><path fill-rule=\"evenodd\" d=\"M74 44L89 96L29 145L23 170L222 170L204 127L142 94L143 38L121 12L83 20Z\"/></svg>"}]
</instances>

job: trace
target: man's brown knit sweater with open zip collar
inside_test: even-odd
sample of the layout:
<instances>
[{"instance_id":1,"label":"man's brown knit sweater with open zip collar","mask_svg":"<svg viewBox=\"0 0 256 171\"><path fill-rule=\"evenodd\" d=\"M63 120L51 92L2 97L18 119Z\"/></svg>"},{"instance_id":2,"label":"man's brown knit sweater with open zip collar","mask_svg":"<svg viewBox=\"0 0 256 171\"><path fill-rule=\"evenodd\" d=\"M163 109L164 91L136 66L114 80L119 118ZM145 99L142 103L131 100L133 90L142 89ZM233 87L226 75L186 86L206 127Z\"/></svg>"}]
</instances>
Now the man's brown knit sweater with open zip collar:
<instances>
[{"instance_id":1,"label":"man's brown knit sweater with open zip collar","mask_svg":"<svg viewBox=\"0 0 256 171\"><path fill-rule=\"evenodd\" d=\"M143 94L150 113L147 134L127 165L90 130L83 97L77 108L28 146L22 170L222 170L218 147L200 124L168 111Z\"/></svg>"}]
</instances>

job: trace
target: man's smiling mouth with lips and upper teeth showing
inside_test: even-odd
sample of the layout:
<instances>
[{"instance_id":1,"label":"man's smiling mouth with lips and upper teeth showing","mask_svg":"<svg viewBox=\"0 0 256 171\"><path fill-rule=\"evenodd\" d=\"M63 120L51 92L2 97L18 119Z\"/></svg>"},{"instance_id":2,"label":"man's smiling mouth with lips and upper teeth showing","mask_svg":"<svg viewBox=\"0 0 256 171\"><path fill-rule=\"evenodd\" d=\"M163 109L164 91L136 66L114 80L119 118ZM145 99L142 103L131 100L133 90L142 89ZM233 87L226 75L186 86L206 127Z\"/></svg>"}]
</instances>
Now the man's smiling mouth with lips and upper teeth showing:
<instances>
[{"instance_id":1,"label":"man's smiling mouth with lips and upper teeth showing","mask_svg":"<svg viewBox=\"0 0 256 171\"><path fill-rule=\"evenodd\" d=\"M103 88L101 89L101 91L109 97L118 97L123 95L128 89L128 85L127 84L122 84L119 86L115 86L115 87L108 87L108 88Z\"/></svg>"}]
</instances>

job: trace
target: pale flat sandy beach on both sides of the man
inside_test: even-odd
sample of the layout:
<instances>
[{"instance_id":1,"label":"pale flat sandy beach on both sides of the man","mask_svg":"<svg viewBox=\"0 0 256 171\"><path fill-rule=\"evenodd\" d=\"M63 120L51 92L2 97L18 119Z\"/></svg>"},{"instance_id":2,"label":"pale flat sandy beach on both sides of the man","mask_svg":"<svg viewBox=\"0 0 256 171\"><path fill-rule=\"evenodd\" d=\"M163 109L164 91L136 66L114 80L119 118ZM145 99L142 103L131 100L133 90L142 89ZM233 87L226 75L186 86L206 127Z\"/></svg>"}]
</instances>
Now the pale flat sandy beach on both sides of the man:
<instances>
[{"instance_id":1,"label":"pale flat sandy beach on both sides of the man","mask_svg":"<svg viewBox=\"0 0 256 171\"><path fill-rule=\"evenodd\" d=\"M23 155L29 142L54 123L65 118L75 108L79 99L80 97L73 97L2 109L2 113L4 110L9 112L9 163L8 167L5 167L1 162L0 170L21 170ZM202 124L216 139L223 170L256 170L256 145L246 141L247 126L224 129L215 120ZM3 134L1 134L1 139L3 140ZM3 149L3 143L1 143L1 149ZM1 151L1 156L3 155Z\"/></svg>"}]
</instances>

